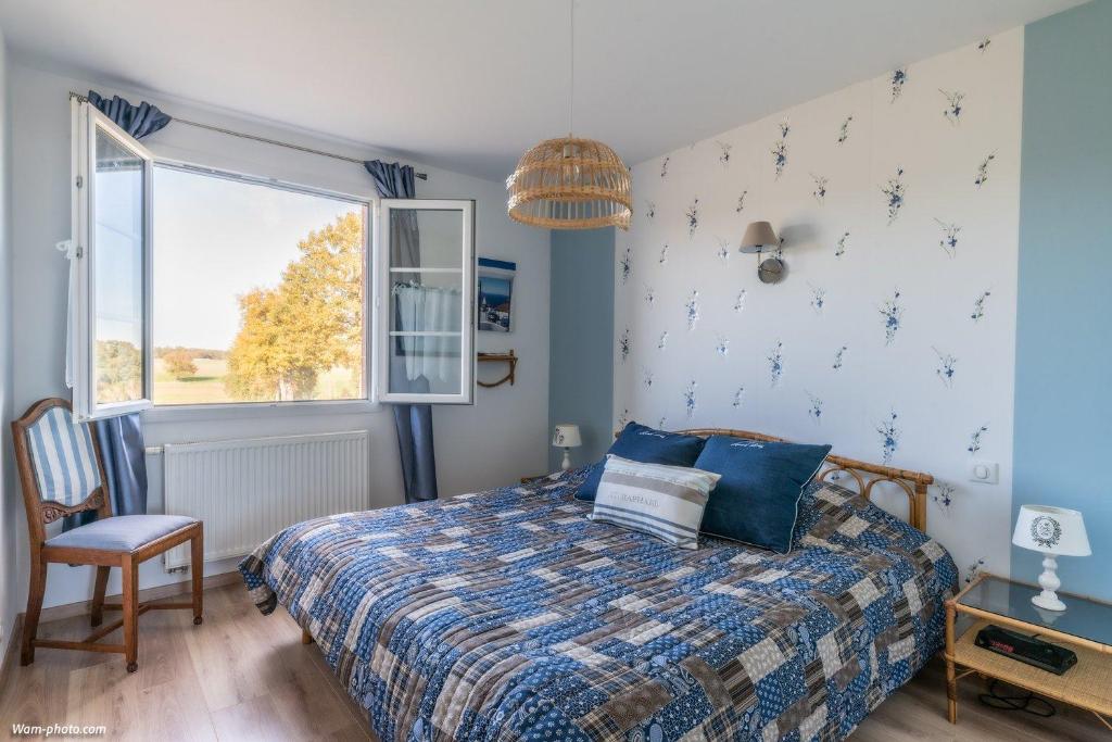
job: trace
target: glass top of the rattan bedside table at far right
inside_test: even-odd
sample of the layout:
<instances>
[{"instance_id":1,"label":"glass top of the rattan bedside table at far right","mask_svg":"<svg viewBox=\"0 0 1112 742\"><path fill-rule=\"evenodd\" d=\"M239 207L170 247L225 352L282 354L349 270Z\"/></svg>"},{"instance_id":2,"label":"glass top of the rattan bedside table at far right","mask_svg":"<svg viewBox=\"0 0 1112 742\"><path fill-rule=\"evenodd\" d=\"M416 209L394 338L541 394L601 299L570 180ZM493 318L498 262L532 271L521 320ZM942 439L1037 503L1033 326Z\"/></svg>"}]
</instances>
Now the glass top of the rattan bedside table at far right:
<instances>
[{"instance_id":1,"label":"glass top of the rattan bedside table at far right","mask_svg":"<svg viewBox=\"0 0 1112 742\"><path fill-rule=\"evenodd\" d=\"M1112 645L1112 603L1059 593L1065 610L1046 611L1031 603L1040 592L1039 587L985 575L957 600L957 605Z\"/></svg>"}]
</instances>

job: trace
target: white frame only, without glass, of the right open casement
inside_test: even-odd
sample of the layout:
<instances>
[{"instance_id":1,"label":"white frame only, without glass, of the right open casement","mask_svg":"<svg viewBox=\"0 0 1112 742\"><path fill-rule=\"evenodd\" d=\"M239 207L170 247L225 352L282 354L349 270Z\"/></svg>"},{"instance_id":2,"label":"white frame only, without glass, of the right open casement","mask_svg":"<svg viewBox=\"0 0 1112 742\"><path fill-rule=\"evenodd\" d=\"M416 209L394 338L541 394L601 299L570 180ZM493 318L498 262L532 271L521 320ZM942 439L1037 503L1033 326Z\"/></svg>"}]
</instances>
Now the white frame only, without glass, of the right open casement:
<instances>
[{"instance_id":1,"label":"white frame only, without glass, of the right open casement","mask_svg":"<svg viewBox=\"0 0 1112 742\"><path fill-rule=\"evenodd\" d=\"M375 265L378 266L378 290L375 295L377 347L376 375L379 402L396 404L433 404L433 405L470 405L475 400L475 201L466 199L427 199L427 198L380 198L376 204L375 229ZM390 210L448 210L460 211L463 219L463 239L460 241L460 311L461 328L459 338L459 393L458 394L415 394L389 390L390 353ZM453 268L395 268L403 273L431 273L455 270Z\"/></svg>"}]
</instances>

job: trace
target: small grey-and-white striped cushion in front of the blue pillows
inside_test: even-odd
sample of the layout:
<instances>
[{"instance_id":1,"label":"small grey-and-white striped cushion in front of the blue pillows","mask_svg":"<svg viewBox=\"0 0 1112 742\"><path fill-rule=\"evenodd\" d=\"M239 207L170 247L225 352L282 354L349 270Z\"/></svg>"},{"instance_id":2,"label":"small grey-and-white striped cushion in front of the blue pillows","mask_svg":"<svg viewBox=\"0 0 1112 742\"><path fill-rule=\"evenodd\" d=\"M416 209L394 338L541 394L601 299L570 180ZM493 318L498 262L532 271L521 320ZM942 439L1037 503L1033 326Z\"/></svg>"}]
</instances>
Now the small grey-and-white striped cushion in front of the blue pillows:
<instances>
[{"instance_id":1,"label":"small grey-and-white striped cushion in front of the blue pillows","mask_svg":"<svg viewBox=\"0 0 1112 742\"><path fill-rule=\"evenodd\" d=\"M595 509L587 517L641 531L681 548L698 548L703 508L721 476L609 454Z\"/></svg>"}]
</instances>

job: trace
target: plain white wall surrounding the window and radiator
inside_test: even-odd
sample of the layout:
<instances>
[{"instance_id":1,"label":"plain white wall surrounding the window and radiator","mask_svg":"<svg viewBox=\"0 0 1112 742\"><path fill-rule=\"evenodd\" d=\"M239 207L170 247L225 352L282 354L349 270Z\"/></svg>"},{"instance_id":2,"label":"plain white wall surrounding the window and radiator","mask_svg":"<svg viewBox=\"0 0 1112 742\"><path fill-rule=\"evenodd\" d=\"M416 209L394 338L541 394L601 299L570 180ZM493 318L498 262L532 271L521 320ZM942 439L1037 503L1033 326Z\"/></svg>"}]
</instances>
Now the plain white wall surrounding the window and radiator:
<instances>
[{"instance_id":1,"label":"plain white wall surrounding the window and radiator","mask_svg":"<svg viewBox=\"0 0 1112 742\"><path fill-rule=\"evenodd\" d=\"M14 60L11 66L13 212L14 219L14 406L22 412L36 399L68 396L63 386L66 265L56 241L69 235L70 113L67 93L89 88L102 95L120 93L132 102L150 100L171 116L226 126L275 139L295 141L360 159L377 157L366 148L277 128L261 121L206 110L185 101L143 96L96 81L76 80L33 69ZM373 83L368 83L373 96ZM374 132L368 132L368 138ZM370 177L358 165L252 142L193 127L171 123L143 144L158 156L188 160L254 175L374 195ZM388 158L390 160L395 158ZM428 168L428 181L417 182L424 198L474 198L477 201L476 248L517 263L514 311L515 332L477 334L479 350L514 348L522 360L515 386L478 388L470 407L438 407L434 413L437 473L441 496L516 482L543 473L547 463L548 394L548 233L519 226L506 217L503 184ZM498 369L500 370L500 369ZM479 372L483 374L483 369ZM487 369L486 374L490 374ZM267 415L236 419L148 422L148 445L211 441L242 436L282 435L365 428L370 432L371 501L376 506L403 499L397 438L389 407L353 415ZM150 467L150 509L160 512L161 468ZM26 538L26 534L23 535ZM22 550L20 556L22 557ZM209 565L209 573L225 572L234 563ZM21 585L27 565L20 566ZM141 586L179 580L168 577L159 561L141 572ZM51 566L47 605L83 600L91 590L91 571ZM21 587L22 592L23 587ZM118 583L109 586L118 590Z\"/></svg>"}]
</instances>

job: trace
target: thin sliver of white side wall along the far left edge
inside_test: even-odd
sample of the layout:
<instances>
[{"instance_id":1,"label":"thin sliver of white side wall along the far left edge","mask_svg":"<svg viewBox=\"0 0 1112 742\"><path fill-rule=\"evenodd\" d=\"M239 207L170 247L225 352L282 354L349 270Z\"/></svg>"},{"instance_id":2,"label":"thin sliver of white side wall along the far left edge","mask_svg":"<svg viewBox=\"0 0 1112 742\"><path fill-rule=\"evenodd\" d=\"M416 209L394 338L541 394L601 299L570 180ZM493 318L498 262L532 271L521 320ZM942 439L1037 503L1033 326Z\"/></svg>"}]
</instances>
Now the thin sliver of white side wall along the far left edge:
<instances>
[{"instance_id":1,"label":"thin sliver of white side wall along the far left edge","mask_svg":"<svg viewBox=\"0 0 1112 742\"><path fill-rule=\"evenodd\" d=\"M0 32L0 652L8 646L19 612L17 590L19 548L16 534L23 515L16 485L14 456L8 421L12 412L11 211L9 209L11 147L8 107L8 52Z\"/></svg>"}]
</instances>

